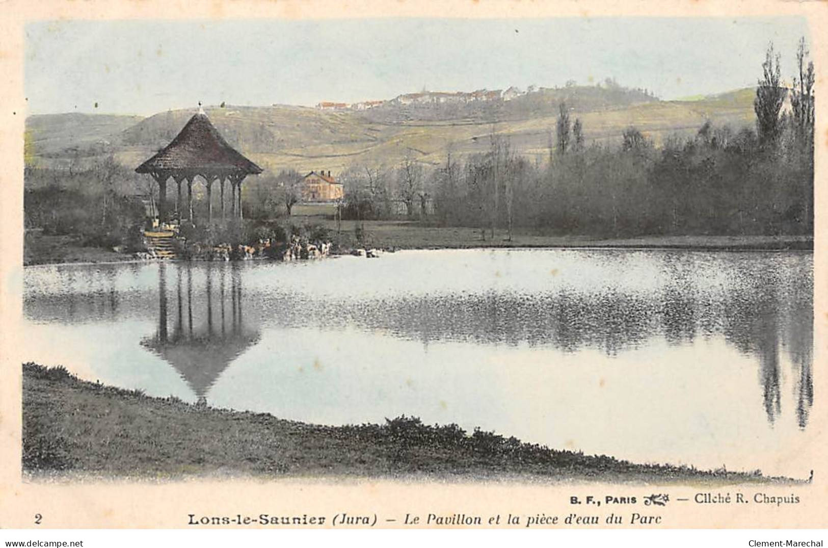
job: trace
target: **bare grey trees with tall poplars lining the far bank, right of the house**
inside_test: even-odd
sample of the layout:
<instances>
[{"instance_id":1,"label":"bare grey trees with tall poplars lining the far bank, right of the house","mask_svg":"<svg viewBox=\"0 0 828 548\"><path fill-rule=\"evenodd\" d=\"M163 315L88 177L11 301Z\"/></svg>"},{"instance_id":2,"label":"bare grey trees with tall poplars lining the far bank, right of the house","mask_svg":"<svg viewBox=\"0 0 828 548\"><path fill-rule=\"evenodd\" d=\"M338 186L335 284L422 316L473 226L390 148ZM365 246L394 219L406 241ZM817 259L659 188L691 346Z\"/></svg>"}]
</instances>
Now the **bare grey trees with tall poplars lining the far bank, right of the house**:
<instances>
[{"instance_id":1,"label":"bare grey trees with tall poplars lining the far bank, right of the house","mask_svg":"<svg viewBox=\"0 0 828 548\"><path fill-rule=\"evenodd\" d=\"M812 233L815 76L808 57L802 39L788 88L780 56L768 47L755 128L706 122L696 135L656 147L628 127L618 144L587 145L580 119L560 103L546 165L492 132L489 150L465 161L450 149L438 167L411 158L392 169L354 166L342 175L344 217L402 215L507 239L515 228L602 237Z\"/></svg>"}]
</instances>

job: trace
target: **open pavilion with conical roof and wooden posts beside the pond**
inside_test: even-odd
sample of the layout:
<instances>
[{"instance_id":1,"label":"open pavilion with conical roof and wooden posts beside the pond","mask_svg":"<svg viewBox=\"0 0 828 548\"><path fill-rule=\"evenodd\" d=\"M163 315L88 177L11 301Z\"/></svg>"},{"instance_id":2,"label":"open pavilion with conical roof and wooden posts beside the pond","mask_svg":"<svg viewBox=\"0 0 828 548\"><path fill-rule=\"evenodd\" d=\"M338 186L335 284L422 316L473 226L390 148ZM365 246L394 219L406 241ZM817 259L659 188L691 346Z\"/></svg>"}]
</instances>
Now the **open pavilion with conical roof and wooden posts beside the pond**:
<instances>
[{"instance_id":1,"label":"open pavilion with conical roof and wooden posts beside the pond","mask_svg":"<svg viewBox=\"0 0 828 548\"><path fill-rule=\"evenodd\" d=\"M176 213L182 219L181 183L187 184L187 214L190 223L193 216L193 181L201 177L207 189L207 222L213 221L212 186L218 180L221 191L221 218L225 219L224 184L229 181L231 190L231 216L242 219L242 181L251 174L262 173L262 168L249 161L221 137L204 109L199 108L169 145L149 160L137 166L138 173L148 173L158 182L158 219L168 220L166 183L176 181Z\"/></svg>"}]
</instances>

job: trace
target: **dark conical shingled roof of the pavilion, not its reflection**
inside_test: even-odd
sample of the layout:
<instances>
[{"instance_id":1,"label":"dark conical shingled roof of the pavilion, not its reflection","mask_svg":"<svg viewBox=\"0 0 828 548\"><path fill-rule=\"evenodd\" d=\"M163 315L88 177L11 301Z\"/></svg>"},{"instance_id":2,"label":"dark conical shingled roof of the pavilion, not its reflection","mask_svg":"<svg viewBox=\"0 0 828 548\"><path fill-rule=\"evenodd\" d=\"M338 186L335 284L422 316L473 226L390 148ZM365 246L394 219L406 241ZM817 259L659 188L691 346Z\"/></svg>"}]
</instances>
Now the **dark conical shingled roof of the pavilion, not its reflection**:
<instances>
[{"instance_id":1,"label":"dark conical shingled roof of the pavilion, not its reflection","mask_svg":"<svg viewBox=\"0 0 828 548\"><path fill-rule=\"evenodd\" d=\"M172 142L136 168L138 173L254 174L262 168L231 147L201 111Z\"/></svg>"}]
</instances>

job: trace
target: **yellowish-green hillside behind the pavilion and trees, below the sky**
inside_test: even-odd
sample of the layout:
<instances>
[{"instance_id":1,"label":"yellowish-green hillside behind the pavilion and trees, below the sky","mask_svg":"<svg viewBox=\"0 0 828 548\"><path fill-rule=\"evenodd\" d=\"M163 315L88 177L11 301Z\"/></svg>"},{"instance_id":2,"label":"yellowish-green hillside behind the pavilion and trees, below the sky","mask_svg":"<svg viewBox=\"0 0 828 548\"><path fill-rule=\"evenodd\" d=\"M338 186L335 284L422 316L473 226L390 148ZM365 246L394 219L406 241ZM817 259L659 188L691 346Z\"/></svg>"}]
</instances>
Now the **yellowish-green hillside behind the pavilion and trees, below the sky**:
<instances>
[{"instance_id":1,"label":"yellowish-green hillside behind the pavilion and trees, below the sky","mask_svg":"<svg viewBox=\"0 0 828 548\"><path fill-rule=\"evenodd\" d=\"M219 131L267 171L343 171L349 166L392 166L406 156L431 165L483 152L491 132L508 136L514 151L545 161L558 104L580 118L589 142L615 142L635 125L657 144L691 135L706 119L739 128L753 123L753 89L686 101L658 101L638 90L595 86L541 89L512 101L474 107L394 105L358 110L274 105L205 108ZM195 109L149 118L58 114L27 119L26 159L37 166L64 164L77 156L113 153L137 166L166 146Z\"/></svg>"}]
</instances>

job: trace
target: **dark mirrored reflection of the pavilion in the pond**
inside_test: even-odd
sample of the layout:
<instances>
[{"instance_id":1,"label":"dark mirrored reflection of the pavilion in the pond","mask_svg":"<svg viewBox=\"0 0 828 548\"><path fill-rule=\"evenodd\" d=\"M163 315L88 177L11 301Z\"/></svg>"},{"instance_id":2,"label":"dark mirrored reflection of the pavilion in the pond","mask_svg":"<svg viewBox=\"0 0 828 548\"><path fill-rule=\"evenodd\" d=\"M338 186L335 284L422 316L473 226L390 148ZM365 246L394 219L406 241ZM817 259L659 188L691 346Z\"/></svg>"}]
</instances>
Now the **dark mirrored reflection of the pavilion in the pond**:
<instances>
[{"instance_id":1,"label":"dark mirrored reflection of the pavilion in the pond","mask_svg":"<svg viewBox=\"0 0 828 548\"><path fill-rule=\"evenodd\" d=\"M242 278L227 263L208 263L196 281L189 264L177 264L175 288L168 289L167 265L158 266L158 326L141 345L169 363L200 404L230 363L258 343L254 322L243 316ZM174 292L171 297L168 293ZM172 325L170 325L172 323Z\"/></svg>"}]
</instances>

